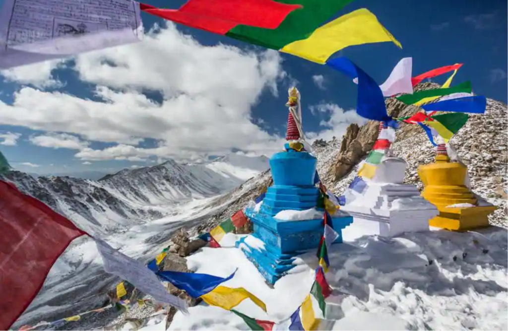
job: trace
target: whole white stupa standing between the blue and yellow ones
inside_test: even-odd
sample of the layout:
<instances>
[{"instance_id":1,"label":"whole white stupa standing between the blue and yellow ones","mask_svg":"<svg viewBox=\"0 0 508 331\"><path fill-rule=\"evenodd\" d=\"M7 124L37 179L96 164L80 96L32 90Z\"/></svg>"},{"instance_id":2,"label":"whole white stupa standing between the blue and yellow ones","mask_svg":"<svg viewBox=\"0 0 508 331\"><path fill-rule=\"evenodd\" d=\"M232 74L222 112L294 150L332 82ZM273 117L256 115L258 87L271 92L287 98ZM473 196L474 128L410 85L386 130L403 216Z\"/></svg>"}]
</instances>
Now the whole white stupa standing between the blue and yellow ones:
<instances>
[{"instance_id":1,"label":"whole white stupa standing between the blue and yellow ones","mask_svg":"<svg viewBox=\"0 0 508 331\"><path fill-rule=\"evenodd\" d=\"M371 154L344 195L345 205L340 209L354 218L342 230L344 240L428 231L429 220L439 214L415 185L403 184L407 163L390 153L394 140L395 130L382 122Z\"/></svg>"}]
</instances>

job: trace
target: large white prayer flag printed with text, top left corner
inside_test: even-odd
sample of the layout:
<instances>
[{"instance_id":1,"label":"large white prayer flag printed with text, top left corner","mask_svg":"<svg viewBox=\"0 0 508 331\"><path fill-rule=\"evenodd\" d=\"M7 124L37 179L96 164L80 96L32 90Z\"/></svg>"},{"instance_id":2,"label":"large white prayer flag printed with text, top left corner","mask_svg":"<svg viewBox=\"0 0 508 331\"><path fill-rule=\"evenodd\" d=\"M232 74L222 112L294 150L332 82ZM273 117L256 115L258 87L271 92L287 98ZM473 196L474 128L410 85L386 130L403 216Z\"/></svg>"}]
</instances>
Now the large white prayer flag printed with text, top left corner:
<instances>
[{"instance_id":1,"label":"large white prayer flag printed with text, top left corner","mask_svg":"<svg viewBox=\"0 0 508 331\"><path fill-rule=\"evenodd\" d=\"M5 0L0 69L134 43L143 35L132 0Z\"/></svg>"}]
</instances>

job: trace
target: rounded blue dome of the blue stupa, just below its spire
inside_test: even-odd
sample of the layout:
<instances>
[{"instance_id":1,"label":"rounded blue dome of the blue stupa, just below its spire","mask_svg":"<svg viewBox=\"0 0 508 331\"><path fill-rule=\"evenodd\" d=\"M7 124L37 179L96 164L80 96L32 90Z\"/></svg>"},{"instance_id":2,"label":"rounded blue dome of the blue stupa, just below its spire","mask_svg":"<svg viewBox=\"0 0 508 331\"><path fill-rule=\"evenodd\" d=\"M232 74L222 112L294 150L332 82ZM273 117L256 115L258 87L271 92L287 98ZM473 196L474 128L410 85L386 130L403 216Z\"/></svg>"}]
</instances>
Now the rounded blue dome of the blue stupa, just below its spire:
<instances>
[{"instance_id":1,"label":"rounded blue dome of the blue stupa, just below its spire","mask_svg":"<svg viewBox=\"0 0 508 331\"><path fill-rule=\"evenodd\" d=\"M317 159L306 152L280 152L270 158L273 183L287 186L312 186Z\"/></svg>"}]
</instances>

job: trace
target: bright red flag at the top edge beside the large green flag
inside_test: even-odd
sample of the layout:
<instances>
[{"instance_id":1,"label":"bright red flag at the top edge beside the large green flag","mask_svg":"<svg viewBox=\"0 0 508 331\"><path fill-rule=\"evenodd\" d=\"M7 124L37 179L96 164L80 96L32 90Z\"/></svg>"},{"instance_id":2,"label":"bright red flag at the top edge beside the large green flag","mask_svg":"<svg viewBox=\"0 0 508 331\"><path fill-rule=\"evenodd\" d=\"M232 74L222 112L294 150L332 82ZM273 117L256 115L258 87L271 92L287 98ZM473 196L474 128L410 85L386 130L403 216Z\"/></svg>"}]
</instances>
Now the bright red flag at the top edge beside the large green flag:
<instances>
[{"instance_id":1,"label":"bright red flag at the top edge beside the large green flag","mask_svg":"<svg viewBox=\"0 0 508 331\"><path fill-rule=\"evenodd\" d=\"M289 13L302 8L272 0L189 0L178 10L140 5L146 13L219 35L239 24L274 29Z\"/></svg>"}]
</instances>

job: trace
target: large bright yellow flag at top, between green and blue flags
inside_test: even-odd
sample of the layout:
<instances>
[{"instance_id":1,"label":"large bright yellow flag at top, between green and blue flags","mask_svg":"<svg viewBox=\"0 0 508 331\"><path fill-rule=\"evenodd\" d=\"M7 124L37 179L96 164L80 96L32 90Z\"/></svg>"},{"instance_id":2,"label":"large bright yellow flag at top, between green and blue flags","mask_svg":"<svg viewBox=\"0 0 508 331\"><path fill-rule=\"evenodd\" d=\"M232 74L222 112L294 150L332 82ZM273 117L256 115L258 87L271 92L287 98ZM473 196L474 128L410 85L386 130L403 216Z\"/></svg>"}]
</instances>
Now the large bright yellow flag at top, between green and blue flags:
<instances>
[{"instance_id":1,"label":"large bright yellow flag at top, between green and blue flags","mask_svg":"<svg viewBox=\"0 0 508 331\"><path fill-rule=\"evenodd\" d=\"M402 48L377 17L362 8L317 28L309 38L285 45L280 51L324 64L333 53L348 46L385 41L392 41Z\"/></svg>"}]
</instances>

